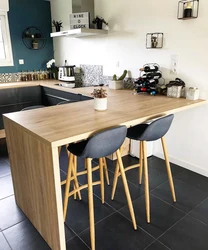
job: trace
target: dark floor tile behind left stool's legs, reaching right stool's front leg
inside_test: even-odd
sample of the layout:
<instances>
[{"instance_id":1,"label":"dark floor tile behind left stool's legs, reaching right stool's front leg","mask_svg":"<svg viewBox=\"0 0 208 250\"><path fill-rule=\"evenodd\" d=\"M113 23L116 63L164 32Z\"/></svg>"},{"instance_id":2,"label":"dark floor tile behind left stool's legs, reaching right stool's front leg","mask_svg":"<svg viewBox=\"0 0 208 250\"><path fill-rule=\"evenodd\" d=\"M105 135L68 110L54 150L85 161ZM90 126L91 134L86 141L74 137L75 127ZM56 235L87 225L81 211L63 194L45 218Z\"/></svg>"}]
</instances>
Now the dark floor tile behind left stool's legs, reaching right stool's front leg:
<instances>
[{"instance_id":1,"label":"dark floor tile behind left stool's legs, reaching right stool's front leg","mask_svg":"<svg viewBox=\"0 0 208 250\"><path fill-rule=\"evenodd\" d=\"M125 195L125 191L124 191L124 187L123 187L123 181L122 181L121 177L118 178L118 184L117 184L117 188L116 188L115 198L112 201L111 200L111 192L112 192L113 178L114 178L114 174L112 174L109 171L109 180L110 180L111 185L108 186L106 183L106 178L104 176L105 202L107 204L109 204L110 206L112 206L114 209L120 209L120 208L127 205L126 195ZM100 180L99 170L93 172L93 180L94 181ZM87 183L87 176L83 176L82 178L79 179L79 181L82 184ZM131 184L131 183L128 183L128 186L129 186L129 191L130 191L132 200L136 200L137 198L139 198L140 196L142 196L144 194L143 189L139 188L138 186ZM96 194L97 196L99 196L101 198L100 185L97 185L94 187L94 194Z\"/></svg>"}]
</instances>

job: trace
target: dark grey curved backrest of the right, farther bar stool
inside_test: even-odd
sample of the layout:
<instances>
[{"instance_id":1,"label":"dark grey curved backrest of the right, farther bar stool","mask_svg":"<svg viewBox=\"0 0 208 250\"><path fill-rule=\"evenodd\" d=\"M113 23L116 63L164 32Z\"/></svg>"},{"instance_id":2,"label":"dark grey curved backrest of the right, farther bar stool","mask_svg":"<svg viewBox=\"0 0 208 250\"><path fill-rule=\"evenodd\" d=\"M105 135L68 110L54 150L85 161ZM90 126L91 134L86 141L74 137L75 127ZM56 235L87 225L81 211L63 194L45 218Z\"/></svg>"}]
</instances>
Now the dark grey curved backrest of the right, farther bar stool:
<instances>
[{"instance_id":1,"label":"dark grey curved backrest of the right, farther bar stool","mask_svg":"<svg viewBox=\"0 0 208 250\"><path fill-rule=\"evenodd\" d=\"M174 115L163 116L150 123L140 136L140 141L155 141L162 138L169 130Z\"/></svg>"}]
</instances>

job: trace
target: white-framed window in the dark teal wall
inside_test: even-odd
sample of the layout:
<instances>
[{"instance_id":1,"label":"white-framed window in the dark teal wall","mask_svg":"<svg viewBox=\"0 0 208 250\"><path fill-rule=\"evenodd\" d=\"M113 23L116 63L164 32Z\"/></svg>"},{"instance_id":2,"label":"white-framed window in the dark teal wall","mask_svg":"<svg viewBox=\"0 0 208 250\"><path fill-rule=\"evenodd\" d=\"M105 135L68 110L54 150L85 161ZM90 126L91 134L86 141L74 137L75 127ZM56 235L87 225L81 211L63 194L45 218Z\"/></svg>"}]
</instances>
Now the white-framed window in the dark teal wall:
<instances>
[{"instance_id":1,"label":"white-framed window in the dark teal wall","mask_svg":"<svg viewBox=\"0 0 208 250\"><path fill-rule=\"evenodd\" d=\"M0 11L0 67L13 65L7 12Z\"/></svg>"}]
</instances>

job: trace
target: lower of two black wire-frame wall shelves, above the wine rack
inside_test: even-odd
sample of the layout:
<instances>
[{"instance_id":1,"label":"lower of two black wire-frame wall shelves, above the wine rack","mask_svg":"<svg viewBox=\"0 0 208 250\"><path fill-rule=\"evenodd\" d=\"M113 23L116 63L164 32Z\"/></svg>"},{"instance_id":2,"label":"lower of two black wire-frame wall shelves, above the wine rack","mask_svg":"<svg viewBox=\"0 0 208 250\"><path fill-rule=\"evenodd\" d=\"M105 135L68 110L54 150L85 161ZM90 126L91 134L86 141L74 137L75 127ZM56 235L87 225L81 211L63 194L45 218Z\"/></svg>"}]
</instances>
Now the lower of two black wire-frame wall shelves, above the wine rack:
<instances>
[{"instance_id":1,"label":"lower of two black wire-frame wall shelves, above the wine rack","mask_svg":"<svg viewBox=\"0 0 208 250\"><path fill-rule=\"evenodd\" d=\"M163 47L163 33L147 33L146 48L161 49Z\"/></svg>"}]
</instances>

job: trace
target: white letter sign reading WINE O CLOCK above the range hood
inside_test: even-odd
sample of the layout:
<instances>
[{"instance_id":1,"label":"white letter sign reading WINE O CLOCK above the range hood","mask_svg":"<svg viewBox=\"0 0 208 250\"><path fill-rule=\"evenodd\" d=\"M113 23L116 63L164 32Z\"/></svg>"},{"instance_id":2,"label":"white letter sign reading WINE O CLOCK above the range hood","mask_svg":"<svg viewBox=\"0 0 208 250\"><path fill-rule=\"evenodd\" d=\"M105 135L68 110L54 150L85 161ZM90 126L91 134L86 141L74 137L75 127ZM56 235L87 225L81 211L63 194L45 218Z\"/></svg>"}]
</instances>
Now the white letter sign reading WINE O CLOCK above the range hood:
<instances>
[{"instance_id":1,"label":"white letter sign reading WINE O CLOCK above the range hood","mask_svg":"<svg viewBox=\"0 0 208 250\"><path fill-rule=\"evenodd\" d=\"M80 29L90 27L90 13L72 13L70 14L70 29Z\"/></svg>"}]
</instances>

